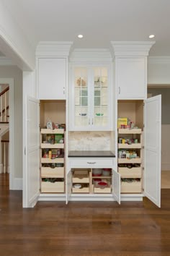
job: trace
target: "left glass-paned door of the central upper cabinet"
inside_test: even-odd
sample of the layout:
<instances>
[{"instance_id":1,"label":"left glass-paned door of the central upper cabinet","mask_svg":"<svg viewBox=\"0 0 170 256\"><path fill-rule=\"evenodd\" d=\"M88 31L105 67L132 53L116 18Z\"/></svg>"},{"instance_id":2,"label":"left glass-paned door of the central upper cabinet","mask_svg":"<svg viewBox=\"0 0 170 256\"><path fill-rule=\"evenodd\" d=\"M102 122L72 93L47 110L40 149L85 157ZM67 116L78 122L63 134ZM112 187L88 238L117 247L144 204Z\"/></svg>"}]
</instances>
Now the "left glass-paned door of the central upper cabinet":
<instances>
[{"instance_id":1,"label":"left glass-paned door of the central upper cabinet","mask_svg":"<svg viewBox=\"0 0 170 256\"><path fill-rule=\"evenodd\" d=\"M74 68L74 126L89 126L88 69Z\"/></svg>"}]
</instances>

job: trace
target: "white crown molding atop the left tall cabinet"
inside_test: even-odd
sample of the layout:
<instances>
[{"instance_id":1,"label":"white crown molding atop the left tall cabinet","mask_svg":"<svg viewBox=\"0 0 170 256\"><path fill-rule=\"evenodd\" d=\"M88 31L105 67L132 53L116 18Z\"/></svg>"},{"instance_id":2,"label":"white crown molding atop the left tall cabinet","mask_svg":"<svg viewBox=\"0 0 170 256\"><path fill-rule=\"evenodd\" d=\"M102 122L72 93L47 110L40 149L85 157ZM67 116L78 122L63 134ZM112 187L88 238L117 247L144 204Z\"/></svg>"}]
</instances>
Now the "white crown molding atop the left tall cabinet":
<instances>
[{"instance_id":1,"label":"white crown molding atop the left tall cabinet","mask_svg":"<svg viewBox=\"0 0 170 256\"><path fill-rule=\"evenodd\" d=\"M37 44L36 56L68 56L73 42L41 41Z\"/></svg>"}]
</instances>

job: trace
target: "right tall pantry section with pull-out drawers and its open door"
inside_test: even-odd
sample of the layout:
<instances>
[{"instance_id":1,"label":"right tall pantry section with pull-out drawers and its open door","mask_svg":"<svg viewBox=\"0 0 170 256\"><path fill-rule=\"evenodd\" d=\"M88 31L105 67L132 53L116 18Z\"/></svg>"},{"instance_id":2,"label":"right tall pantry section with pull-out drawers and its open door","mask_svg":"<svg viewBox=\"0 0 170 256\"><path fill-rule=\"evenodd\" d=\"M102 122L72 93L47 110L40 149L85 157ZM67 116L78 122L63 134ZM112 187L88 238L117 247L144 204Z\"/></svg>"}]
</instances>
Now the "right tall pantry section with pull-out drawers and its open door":
<instances>
[{"instance_id":1,"label":"right tall pantry section with pull-out drawers and its open door","mask_svg":"<svg viewBox=\"0 0 170 256\"><path fill-rule=\"evenodd\" d=\"M161 95L144 101L121 100L117 106L118 118L126 117L139 127L117 132L121 195L143 193L161 207Z\"/></svg>"}]
</instances>

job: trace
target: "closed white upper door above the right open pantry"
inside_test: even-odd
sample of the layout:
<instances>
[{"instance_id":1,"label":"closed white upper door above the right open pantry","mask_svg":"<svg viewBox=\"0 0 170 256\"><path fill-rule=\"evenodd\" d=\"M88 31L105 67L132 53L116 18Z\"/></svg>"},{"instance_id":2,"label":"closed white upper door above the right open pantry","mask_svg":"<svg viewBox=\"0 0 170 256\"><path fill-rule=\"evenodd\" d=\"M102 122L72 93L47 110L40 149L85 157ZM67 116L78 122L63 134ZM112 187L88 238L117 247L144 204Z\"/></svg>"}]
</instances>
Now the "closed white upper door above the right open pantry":
<instances>
[{"instance_id":1,"label":"closed white upper door above the right open pantry","mask_svg":"<svg viewBox=\"0 0 170 256\"><path fill-rule=\"evenodd\" d=\"M145 99L147 93L146 57L117 57L118 99Z\"/></svg>"}]
</instances>

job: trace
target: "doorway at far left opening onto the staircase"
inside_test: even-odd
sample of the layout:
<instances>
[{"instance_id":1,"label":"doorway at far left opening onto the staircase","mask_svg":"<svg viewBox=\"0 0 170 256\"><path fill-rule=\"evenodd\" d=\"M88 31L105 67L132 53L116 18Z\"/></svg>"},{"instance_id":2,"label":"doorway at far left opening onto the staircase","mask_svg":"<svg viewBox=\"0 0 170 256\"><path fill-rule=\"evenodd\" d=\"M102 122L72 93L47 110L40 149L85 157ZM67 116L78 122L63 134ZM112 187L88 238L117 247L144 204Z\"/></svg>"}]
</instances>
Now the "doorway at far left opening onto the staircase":
<instances>
[{"instance_id":1,"label":"doorway at far left opening onto the staircase","mask_svg":"<svg viewBox=\"0 0 170 256\"><path fill-rule=\"evenodd\" d=\"M0 79L0 180L13 189L14 180L14 80Z\"/></svg>"}]
</instances>

